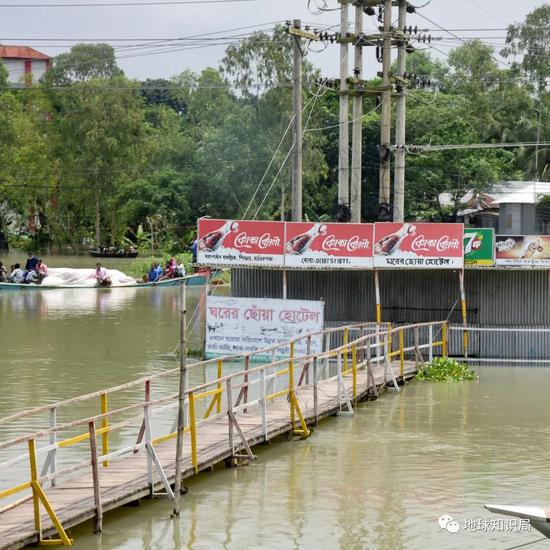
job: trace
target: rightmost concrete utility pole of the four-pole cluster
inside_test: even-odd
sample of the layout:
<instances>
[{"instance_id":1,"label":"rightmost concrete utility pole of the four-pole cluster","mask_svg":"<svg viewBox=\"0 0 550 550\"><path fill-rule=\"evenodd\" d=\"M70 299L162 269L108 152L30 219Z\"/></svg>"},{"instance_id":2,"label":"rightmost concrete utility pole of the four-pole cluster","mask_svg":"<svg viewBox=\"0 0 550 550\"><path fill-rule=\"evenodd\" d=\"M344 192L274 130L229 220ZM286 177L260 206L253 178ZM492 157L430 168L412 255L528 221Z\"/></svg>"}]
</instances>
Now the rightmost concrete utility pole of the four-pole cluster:
<instances>
[{"instance_id":1,"label":"rightmost concrete utility pole of the four-pole cluster","mask_svg":"<svg viewBox=\"0 0 550 550\"><path fill-rule=\"evenodd\" d=\"M399 0L399 49L397 50L397 78L399 91L395 111L395 172L393 181L393 221L403 222L405 216L405 68L407 62L405 26L407 23L407 0ZM389 172L389 171L388 171Z\"/></svg>"}]
</instances>

